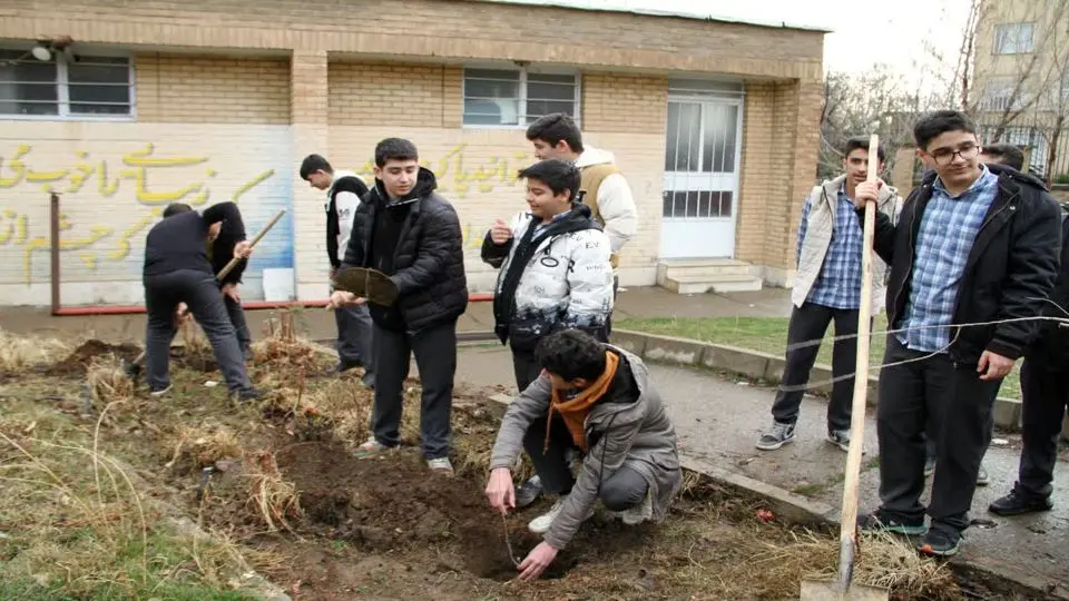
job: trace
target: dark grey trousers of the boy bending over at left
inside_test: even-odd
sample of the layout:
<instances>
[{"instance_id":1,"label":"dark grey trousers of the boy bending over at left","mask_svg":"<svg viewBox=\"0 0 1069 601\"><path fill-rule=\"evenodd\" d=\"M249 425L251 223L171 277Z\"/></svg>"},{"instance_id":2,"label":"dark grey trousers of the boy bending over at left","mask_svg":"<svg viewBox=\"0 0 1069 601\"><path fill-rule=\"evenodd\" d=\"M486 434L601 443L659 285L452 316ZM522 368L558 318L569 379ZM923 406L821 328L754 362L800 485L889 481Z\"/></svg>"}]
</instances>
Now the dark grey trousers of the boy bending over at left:
<instances>
[{"instance_id":1,"label":"dark grey trousers of the boy bending over at left","mask_svg":"<svg viewBox=\"0 0 1069 601\"><path fill-rule=\"evenodd\" d=\"M212 343L215 361L231 392L251 388L245 361L227 315L223 293L212 274L179 269L145 277L145 307L148 327L145 334L145 365L149 390L170 385L170 341L175 337L175 309L185 303Z\"/></svg>"}]
</instances>

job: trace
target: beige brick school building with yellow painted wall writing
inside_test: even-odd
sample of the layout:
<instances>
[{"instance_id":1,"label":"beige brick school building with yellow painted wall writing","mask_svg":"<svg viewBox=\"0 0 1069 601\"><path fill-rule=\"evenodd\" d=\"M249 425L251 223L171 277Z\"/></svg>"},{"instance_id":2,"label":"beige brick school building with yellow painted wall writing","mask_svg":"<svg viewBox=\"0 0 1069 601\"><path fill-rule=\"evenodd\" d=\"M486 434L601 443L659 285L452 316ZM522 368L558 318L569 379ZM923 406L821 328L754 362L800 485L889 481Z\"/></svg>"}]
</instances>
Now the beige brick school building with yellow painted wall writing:
<instances>
[{"instance_id":1,"label":"beige brick school building with yellow painted wall writing","mask_svg":"<svg viewBox=\"0 0 1069 601\"><path fill-rule=\"evenodd\" d=\"M489 292L481 237L526 206L523 130L557 110L630 183L625 285L658 266L684 288L784 284L814 180L823 35L470 0L3 0L0 304L48 304L49 191L67 306L139 304L145 234L175 200L235 199L251 231L287 209L244 296L324 298L323 194L297 166L321 152L370 179L388 136L437 173L472 292Z\"/></svg>"}]
</instances>

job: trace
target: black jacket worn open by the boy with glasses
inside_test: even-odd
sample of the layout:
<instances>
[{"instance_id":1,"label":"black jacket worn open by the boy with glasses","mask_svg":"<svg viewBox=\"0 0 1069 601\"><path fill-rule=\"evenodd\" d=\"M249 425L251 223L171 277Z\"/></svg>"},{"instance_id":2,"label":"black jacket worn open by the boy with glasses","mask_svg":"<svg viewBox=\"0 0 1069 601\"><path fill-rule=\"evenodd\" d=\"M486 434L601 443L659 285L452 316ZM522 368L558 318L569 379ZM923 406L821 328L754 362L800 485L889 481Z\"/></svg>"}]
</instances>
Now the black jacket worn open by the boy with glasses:
<instances>
[{"instance_id":1,"label":"black jacket worn open by the boy with glasses","mask_svg":"<svg viewBox=\"0 0 1069 601\"><path fill-rule=\"evenodd\" d=\"M998 193L977 234L958 287L952 323L984 323L1034 317L1043 311L1058 274L1061 221L1058 204L1043 184L1010 167L988 165L999 176ZM932 198L934 173L902 207L898 227L876 214L875 252L891 266L887 318L899 327L910 298L914 240ZM859 210L859 224L864 213ZM984 351L1016 359L1037 332L1037 322L951 328L950 356L974 364ZM955 338L957 337L957 338Z\"/></svg>"}]
</instances>

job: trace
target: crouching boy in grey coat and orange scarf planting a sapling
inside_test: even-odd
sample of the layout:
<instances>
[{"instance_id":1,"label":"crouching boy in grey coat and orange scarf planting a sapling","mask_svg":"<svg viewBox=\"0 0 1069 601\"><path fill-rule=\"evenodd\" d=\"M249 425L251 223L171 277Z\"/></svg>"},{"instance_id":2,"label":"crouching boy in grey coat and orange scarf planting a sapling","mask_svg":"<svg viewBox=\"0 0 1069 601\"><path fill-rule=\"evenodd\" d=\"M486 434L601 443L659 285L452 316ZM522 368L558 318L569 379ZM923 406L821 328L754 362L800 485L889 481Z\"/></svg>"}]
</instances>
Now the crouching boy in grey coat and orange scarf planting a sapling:
<instances>
[{"instance_id":1,"label":"crouching boy in grey coat and orange scarf planting a sapling","mask_svg":"<svg viewBox=\"0 0 1069 601\"><path fill-rule=\"evenodd\" d=\"M543 542L520 563L537 579L599 499L624 523L661 521L683 483L676 431L637 356L578 329L551 334L534 355L542 374L509 405L490 459L490 506L516 506L511 466L522 447L547 493L560 499L532 520ZM578 451L573 477L565 455Z\"/></svg>"}]
</instances>

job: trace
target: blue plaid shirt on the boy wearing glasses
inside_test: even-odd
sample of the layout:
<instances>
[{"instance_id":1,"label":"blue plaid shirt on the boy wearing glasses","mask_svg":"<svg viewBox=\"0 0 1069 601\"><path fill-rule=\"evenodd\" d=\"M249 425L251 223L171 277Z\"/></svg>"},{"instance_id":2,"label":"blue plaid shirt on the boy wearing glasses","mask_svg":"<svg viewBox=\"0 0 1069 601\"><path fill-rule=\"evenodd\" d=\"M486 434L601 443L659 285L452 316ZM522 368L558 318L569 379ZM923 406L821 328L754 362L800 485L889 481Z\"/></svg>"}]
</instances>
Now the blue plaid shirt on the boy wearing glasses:
<instances>
[{"instance_id":1,"label":"blue plaid shirt on the boy wearing glasses","mask_svg":"<svg viewBox=\"0 0 1069 601\"><path fill-rule=\"evenodd\" d=\"M895 334L908 348L934 353L945 352L950 345L950 328L945 326L953 323L958 285L972 243L999 190L998 176L982 165L980 168L980 177L958 196L950 196L942 181L935 179L932 198L921 217L910 298L899 326L928 329Z\"/></svg>"}]
</instances>

